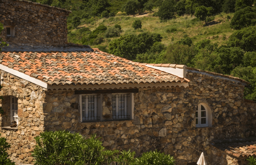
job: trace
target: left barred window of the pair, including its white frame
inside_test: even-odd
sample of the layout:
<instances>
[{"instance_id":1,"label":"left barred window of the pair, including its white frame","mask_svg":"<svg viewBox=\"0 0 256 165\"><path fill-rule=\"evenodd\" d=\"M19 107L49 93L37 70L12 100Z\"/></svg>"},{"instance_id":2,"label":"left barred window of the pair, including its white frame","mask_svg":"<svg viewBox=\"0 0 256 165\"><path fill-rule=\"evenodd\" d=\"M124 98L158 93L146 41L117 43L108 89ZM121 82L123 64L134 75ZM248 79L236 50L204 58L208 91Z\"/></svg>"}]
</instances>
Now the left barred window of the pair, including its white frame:
<instances>
[{"instance_id":1,"label":"left barred window of the pair, including its white frame","mask_svg":"<svg viewBox=\"0 0 256 165\"><path fill-rule=\"evenodd\" d=\"M94 113L93 116L90 116L90 104L89 98L93 97L93 107ZM92 121L92 120L99 120L99 95L98 94L80 94L80 120L83 121Z\"/></svg>"}]
</instances>

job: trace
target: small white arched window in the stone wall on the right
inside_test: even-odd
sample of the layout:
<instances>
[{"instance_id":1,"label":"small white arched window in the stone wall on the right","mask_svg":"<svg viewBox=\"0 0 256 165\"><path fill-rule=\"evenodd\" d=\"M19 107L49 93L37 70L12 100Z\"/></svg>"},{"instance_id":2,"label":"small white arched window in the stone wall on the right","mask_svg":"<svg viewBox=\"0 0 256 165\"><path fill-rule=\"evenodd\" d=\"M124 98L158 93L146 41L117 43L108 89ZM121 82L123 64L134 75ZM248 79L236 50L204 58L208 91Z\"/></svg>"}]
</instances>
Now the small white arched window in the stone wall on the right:
<instances>
[{"instance_id":1,"label":"small white arched window in the stone wall on the right","mask_svg":"<svg viewBox=\"0 0 256 165\"><path fill-rule=\"evenodd\" d=\"M195 127L211 127L211 126L212 126L211 109L207 104L200 103L196 107Z\"/></svg>"}]
</instances>

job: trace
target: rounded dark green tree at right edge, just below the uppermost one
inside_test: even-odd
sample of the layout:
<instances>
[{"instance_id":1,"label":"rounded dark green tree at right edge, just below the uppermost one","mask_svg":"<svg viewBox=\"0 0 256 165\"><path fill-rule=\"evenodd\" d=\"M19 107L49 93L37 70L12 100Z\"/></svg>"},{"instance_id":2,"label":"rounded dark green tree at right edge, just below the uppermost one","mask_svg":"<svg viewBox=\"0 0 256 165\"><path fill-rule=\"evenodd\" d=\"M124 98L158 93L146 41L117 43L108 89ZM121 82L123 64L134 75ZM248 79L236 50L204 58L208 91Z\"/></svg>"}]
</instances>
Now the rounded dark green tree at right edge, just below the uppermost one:
<instances>
[{"instance_id":1,"label":"rounded dark green tree at right edge, just below the uppermost one","mask_svg":"<svg viewBox=\"0 0 256 165\"><path fill-rule=\"evenodd\" d=\"M252 42L254 41L254 42ZM245 51L256 51L256 26L235 31L228 40L230 47L240 47Z\"/></svg>"}]
</instances>

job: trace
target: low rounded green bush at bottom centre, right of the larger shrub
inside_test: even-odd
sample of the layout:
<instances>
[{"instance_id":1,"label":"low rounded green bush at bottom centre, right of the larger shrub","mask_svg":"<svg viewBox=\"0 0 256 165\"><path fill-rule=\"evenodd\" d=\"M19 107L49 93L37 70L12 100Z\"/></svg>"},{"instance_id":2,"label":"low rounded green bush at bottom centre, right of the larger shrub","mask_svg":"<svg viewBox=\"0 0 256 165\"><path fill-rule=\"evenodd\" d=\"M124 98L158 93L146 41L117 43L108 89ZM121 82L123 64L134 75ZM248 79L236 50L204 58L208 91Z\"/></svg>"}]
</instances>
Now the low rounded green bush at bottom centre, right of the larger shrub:
<instances>
[{"instance_id":1,"label":"low rounded green bush at bottom centre, right of the larger shrub","mask_svg":"<svg viewBox=\"0 0 256 165\"><path fill-rule=\"evenodd\" d=\"M165 155L158 151L150 151L143 153L141 157L136 159L134 165L174 165L175 160L170 155Z\"/></svg>"}]
</instances>

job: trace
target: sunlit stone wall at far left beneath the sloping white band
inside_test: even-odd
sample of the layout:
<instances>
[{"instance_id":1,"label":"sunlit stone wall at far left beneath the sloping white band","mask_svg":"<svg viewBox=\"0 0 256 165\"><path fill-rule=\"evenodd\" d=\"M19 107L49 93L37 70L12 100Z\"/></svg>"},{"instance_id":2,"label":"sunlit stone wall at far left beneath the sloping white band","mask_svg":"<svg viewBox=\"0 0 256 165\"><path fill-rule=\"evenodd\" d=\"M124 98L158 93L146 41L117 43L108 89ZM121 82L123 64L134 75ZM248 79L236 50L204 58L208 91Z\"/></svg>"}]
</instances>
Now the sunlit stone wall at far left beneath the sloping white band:
<instances>
[{"instance_id":1,"label":"sunlit stone wall at far left beneath the sloping white band","mask_svg":"<svg viewBox=\"0 0 256 165\"><path fill-rule=\"evenodd\" d=\"M1 137L5 137L11 144L7 151L10 159L16 163L31 163L30 151L36 142L34 137L44 130L43 101L45 91L43 88L20 79L9 73L1 71L2 89L0 95L4 96L0 106L4 114L0 114L0 125L10 125L10 97L18 98L18 128L0 128ZM6 120L8 122L6 122Z\"/></svg>"}]
</instances>

